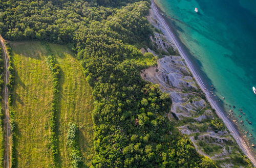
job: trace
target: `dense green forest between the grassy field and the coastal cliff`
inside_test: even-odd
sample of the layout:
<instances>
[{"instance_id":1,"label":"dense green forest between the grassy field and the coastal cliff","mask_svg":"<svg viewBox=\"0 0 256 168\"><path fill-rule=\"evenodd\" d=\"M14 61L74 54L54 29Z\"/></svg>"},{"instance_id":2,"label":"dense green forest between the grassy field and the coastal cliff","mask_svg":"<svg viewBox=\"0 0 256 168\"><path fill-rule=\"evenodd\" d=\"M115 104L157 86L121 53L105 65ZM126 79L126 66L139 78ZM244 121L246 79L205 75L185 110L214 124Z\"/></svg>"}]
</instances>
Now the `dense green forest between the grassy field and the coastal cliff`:
<instances>
[{"instance_id":1,"label":"dense green forest between the grassy field and the coastal cliff","mask_svg":"<svg viewBox=\"0 0 256 168\"><path fill-rule=\"evenodd\" d=\"M142 80L146 65L133 61L150 45L149 8L147 1L2 0L0 33L73 46L93 88L93 166L215 167L175 131L168 94Z\"/></svg>"}]
</instances>

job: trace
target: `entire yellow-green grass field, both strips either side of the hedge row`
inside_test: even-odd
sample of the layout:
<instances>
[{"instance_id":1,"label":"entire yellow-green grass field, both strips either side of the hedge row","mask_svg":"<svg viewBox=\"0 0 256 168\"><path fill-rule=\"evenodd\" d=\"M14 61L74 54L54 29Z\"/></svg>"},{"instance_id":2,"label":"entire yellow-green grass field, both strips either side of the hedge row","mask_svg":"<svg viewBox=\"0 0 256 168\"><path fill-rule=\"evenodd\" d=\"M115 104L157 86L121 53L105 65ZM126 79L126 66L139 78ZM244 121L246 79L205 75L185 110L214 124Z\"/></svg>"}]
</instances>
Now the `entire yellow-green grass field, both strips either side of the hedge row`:
<instances>
[{"instance_id":1,"label":"entire yellow-green grass field, both strips either side of the hedge row","mask_svg":"<svg viewBox=\"0 0 256 168\"><path fill-rule=\"evenodd\" d=\"M66 142L67 125L71 121L79 126L80 149L84 163L90 165L93 154L92 91L74 54L65 45L42 42L12 42L11 47L15 67L13 108L18 130L18 167L48 167L53 163L49 139L53 83L46 63L49 53L55 55L61 69L57 114L60 165L70 167Z\"/></svg>"}]
</instances>

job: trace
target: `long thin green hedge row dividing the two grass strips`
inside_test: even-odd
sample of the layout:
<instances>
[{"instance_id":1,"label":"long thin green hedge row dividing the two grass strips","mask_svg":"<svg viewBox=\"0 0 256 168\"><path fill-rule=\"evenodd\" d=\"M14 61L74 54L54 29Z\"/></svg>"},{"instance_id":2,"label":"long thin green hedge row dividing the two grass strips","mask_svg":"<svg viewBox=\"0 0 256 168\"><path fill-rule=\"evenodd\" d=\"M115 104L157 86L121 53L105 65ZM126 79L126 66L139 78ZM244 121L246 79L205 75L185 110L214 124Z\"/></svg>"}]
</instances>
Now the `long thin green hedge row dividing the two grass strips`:
<instances>
[{"instance_id":1,"label":"long thin green hedge row dividing the two grass strips","mask_svg":"<svg viewBox=\"0 0 256 168\"><path fill-rule=\"evenodd\" d=\"M51 104L51 117L50 117L50 128L51 128L51 149L52 149L52 155L53 155L53 162L54 166L58 167L57 162L57 156L58 156L58 149L57 149L57 143L58 143L58 137L57 137L57 107L56 104L58 102L58 93L59 93L59 65L57 64L57 61L54 56L49 55L47 57L47 64L49 68L52 71L53 75L53 101Z\"/></svg>"}]
</instances>

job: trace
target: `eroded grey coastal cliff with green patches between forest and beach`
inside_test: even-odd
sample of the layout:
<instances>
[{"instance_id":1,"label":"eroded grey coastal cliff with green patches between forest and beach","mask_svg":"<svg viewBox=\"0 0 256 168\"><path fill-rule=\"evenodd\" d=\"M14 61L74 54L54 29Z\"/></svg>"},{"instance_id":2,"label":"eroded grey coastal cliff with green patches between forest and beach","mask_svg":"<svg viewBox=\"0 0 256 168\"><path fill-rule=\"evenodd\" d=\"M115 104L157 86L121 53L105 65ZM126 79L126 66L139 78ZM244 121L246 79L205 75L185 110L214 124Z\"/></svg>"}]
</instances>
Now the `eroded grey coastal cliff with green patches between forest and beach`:
<instances>
[{"instance_id":1,"label":"eroded grey coastal cliff with green patches between forest and beach","mask_svg":"<svg viewBox=\"0 0 256 168\"><path fill-rule=\"evenodd\" d=\"M166 35L169 30L159 22L157 14L152 3L147 19L157 30L151 38L156 51L149 48L147 51L160 59L157 66L143 70L141 77L158 84L163 92L169 94L173 101L169 119L190 138L200 154L208 156L221 167L245 167L249 159L208 102L175 42Z\"/></svg>"}]
</instances>

